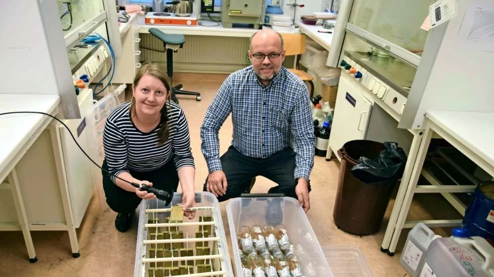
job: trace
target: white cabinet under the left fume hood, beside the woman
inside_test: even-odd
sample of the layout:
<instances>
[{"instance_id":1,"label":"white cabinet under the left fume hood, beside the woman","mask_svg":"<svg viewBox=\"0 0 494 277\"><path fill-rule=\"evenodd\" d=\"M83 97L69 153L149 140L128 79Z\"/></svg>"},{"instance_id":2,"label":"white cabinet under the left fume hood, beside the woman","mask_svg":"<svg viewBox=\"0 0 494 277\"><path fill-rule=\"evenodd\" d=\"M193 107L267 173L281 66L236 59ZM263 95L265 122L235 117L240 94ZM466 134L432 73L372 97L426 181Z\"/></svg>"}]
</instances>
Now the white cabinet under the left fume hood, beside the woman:
<instances>
[{"instance_id":1,"label":"white cabinet under the left fume hood, beside the woman","mask_svg":"<svg viewBox=\"0 0 494 277\"><path fill-rule=\"evenodd\" d=\"M92 131L91 116L92 89L81 91L78 104L82 119L63 120L69 127L79 145L93 160L98 161L96 139ZM57 135L59 145L53 145L52 135ZM69 193L69 209L65 209L61 198L59 177L55 167L54 147L60 147L65 169L64 181ZM26 154L16 165L21 195L24 200L27 219L31 230L67 230L65 212L73 218L73 228L79 228L94 192L95 180L101 178L98 168L92 164L76 145L70 133L59 122L44 130ZM18 217L10 190L0 189L0 225L18 225ZM15 229L15 228L13 228Z\"/></svg>"}]
</instances>

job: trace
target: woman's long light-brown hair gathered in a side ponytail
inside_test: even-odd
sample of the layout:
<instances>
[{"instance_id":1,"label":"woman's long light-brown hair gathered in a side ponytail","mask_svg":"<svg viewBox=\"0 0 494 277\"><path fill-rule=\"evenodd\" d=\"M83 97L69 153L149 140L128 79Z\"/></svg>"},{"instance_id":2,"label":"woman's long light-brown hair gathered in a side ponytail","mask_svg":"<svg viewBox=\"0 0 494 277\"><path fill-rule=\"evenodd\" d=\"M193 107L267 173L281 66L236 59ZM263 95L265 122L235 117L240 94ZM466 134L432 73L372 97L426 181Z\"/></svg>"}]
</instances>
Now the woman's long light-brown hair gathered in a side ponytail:
<instances>
[{"instance_id":1,"label":"woman's long light-brown hair gathered in a side ponytail","mask_svg":"<svg viewBox=\"0 0 494 277\"><path fill-rule=\"evenodd\" d=\"M144 63L140 68L139 71L136 74L136 77L134 77L134 87L137 87L137 84L141 80L142 76L144 75L150 75L153 76L157 79L159 79L161 82L166 87L166 93L167 99L165 102L165 105L163 105L163 108L161 109L161 120L160 122L162 123L161 128L158 131L158 145L162 145L166 141L168 141L170 137L170 129L168 127L168 111L170 109L170 99L171 99L171 82L170 78L168 77L168 74L166 74L166 70L161 67L157 63ZM131 107L130 107L130 112L131 112L131 120L132 120L132 113L134 115L136 114L136 98L132 97L131 101Z\"/></svg>"}]
</instances>

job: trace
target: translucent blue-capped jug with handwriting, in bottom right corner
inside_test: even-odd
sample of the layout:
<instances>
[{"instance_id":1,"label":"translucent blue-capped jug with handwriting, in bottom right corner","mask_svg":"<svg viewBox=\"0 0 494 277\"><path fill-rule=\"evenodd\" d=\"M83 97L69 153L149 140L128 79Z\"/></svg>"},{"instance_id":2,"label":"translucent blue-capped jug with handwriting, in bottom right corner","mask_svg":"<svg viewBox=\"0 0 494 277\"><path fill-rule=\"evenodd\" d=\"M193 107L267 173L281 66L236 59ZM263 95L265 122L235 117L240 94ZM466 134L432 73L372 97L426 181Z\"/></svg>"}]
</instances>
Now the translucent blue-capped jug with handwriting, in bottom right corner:
<instances>
[{"instance_id":1,"label":"translucent blue-capped jug with handwriting, in bottom right corner","mask_svg":"<svg viewBox=\"0 0 494 277\"><path fill-rule=\"evenodd\" d=\"M430 243L419 277L494 277L492 256L476 239L438 238ZM492 246L488 245L492 248Z\"/></svg>"}]
</instances>

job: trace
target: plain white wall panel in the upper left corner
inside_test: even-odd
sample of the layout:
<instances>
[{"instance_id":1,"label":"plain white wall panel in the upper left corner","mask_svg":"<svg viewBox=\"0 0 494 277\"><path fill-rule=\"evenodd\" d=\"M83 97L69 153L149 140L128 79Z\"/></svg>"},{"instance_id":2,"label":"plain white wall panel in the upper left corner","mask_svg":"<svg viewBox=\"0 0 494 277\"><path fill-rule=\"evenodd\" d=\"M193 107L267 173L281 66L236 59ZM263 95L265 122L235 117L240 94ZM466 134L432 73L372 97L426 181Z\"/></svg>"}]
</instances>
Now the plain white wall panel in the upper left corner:
<instances>
[{"instance_id":1,"label":"plain white wall panel in the upper left corner","mask_svg":"<svg viewBox=\"0 0 494 277\"><path fill-rule=\"evenodd\" d=\"M0 94L57 94L41 15L33 2L2 1Z\"/></svg>"}]
</instances>

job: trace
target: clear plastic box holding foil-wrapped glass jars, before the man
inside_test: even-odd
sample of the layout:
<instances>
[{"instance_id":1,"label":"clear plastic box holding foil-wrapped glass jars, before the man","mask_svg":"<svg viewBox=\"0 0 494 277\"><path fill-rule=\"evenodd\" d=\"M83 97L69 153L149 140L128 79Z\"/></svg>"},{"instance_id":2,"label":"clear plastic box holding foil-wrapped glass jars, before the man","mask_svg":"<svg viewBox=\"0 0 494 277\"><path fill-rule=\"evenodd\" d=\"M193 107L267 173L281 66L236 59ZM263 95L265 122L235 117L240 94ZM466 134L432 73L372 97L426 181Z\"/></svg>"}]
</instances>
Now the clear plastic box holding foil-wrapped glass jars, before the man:
<instances>
[{"instance_id":1,"label":"clear plastic box holding foil-wrapped glass jars, before the man","mask_svg":"<svg viewBox=\"0 0 494 277\"><path fill-rule=\"evenodd\" d=\"M226 206L228 223L235 264L233 268L237 277L243 277L242 262L239 255L237 234L241 226L269 225L266 222L266 211L269 202L274 198L236 198L231 199ZM325 253L319 244L316 235L305 216L300 204L293 198L277 199L281 202L281 211L278 221L286 228L298 264L305 277L332 277L334 276Z\"/></svg>"}]
</instances>

